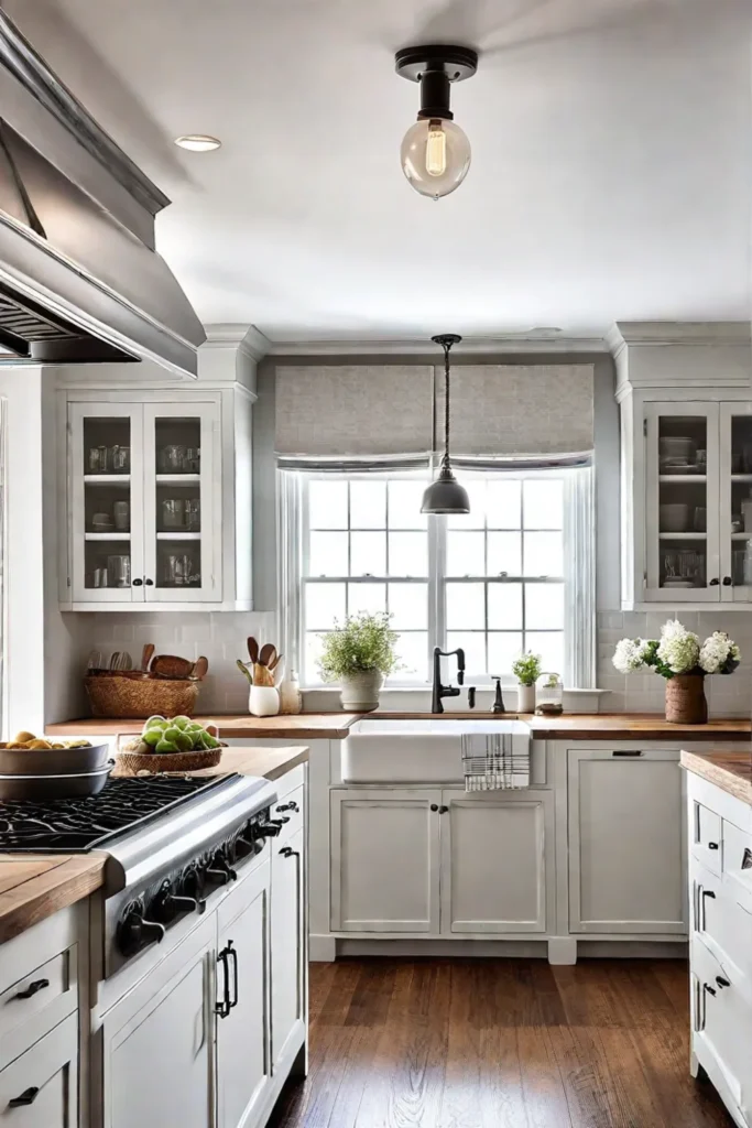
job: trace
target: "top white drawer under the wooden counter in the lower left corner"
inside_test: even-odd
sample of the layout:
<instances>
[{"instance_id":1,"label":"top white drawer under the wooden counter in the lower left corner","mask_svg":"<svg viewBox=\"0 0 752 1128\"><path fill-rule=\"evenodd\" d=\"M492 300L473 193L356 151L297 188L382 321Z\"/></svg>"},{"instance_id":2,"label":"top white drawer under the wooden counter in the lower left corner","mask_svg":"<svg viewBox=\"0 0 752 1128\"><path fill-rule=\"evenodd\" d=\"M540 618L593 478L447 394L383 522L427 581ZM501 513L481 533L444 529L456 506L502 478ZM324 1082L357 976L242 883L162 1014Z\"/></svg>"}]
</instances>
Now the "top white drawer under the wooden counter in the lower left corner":
<instances>
[{"instance_id":1,"label":"top white drawer under the wooden counter in the lower left corner","mask_svg":"<svg viewBox=\"0 0 752 1128\"><path fill-rule=\"evenodd\" d=\"M0 1061L37 1041L76 1010L76 948L53 955L0 995Z\"/></svg>"}]
</instances>

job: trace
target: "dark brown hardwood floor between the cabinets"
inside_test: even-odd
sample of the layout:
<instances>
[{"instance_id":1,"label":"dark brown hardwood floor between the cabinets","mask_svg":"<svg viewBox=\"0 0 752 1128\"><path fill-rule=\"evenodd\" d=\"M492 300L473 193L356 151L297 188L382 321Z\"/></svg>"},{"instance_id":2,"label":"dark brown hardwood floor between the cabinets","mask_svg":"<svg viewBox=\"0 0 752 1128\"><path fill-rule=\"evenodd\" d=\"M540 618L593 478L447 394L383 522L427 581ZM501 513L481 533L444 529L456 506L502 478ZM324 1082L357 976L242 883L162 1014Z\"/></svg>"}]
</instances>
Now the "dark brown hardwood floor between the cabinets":
<instances>
[{"instance_id":1,"label":"dark brown hardwood floor between the cabinets","mask_svg":"<svg viewBox=\"0 0 752 1128\"><path fill-rule=\"evenodd\" d=\"M308 1079L272 1128L733 1128L689 1075L687 964L311 964Z\"/></svg>"}]
</instances>

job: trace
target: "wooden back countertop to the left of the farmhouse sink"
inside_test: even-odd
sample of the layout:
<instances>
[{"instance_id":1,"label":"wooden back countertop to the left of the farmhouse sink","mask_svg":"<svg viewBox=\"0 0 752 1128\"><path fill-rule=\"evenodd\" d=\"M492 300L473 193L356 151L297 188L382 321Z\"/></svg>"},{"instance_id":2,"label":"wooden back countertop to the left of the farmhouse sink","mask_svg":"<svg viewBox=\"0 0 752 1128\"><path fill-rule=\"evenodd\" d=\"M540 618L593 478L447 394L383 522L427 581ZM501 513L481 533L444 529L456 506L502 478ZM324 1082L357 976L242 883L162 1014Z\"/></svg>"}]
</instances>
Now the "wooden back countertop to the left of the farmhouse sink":
<instances>
[{"instance_id":1,"label":"wooden back countertop to the left of the farmhouse sink","mask_svg":"<svg viewBox=\"0 0 752 1128\"><path fill-rule=\"evenodd\" d=\"M249 716L246 714L214 714L196 716L200 724L219 725L224 740L250 737L254 740L342 740L347 735L356 713L301 713L299 716ZM45 725L48 737L132 737L143 729L143 721L83 717Z\"/></svg>"}]
</instances>

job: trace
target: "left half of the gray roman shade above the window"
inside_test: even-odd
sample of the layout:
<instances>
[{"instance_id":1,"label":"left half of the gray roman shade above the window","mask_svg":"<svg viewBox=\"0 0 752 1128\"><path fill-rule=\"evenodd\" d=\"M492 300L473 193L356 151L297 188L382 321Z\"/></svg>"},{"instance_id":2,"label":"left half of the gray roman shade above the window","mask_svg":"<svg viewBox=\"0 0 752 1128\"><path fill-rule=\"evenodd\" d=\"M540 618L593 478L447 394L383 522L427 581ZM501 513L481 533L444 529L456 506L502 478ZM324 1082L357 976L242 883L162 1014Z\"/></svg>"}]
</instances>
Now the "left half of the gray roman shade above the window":
<instances>
[{"instance_id":1,"label":"left half of the gray roman shade above the window","mask_svg":"<svg viewBox=\"0 0 752 1128\"><path fill-rule=\"evenodd\" d=\"M427 464L433 367L301 364L276 370L280 465L336 459Z\"/></svg>"}]
</instances>

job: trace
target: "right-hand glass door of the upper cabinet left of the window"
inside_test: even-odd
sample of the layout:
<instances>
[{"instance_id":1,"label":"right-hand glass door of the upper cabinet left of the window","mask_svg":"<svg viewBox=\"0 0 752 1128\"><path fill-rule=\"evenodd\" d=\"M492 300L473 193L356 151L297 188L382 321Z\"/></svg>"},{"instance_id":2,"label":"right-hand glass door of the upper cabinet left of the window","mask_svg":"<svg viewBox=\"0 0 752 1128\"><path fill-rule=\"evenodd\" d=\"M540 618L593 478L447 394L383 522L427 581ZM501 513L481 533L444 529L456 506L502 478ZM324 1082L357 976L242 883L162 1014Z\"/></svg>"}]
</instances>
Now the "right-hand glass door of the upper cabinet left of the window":
<instances>
[{"instance_id":1,"label":"right-hand glass door of the upper cabinet left of the window","mask_svg":"<svg viewBox=\"0 0 752 1128\"><path fill-rule=\"evenodd\" d=\"M144 594L221 600L219 404L144 405Z\"/></svg>"}]
</instances>

